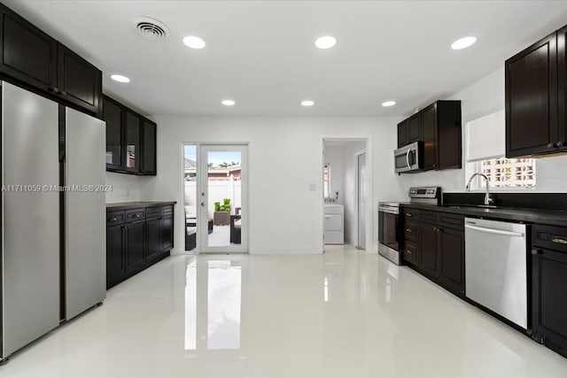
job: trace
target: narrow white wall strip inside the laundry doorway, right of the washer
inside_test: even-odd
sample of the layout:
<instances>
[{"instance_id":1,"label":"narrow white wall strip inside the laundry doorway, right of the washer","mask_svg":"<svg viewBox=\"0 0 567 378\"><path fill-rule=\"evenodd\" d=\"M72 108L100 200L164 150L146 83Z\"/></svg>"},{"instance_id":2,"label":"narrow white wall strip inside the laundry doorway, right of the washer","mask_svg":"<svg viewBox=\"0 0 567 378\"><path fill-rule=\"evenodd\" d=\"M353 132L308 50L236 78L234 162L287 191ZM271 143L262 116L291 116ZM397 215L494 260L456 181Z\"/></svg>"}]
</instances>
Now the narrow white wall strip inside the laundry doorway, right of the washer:
<instances>
[{"instance_id":1,"label":"narrow white wall strip inside the laundry doorway, right of the washer","mask_svg":"<svg viewBox=\"0 0 567 378\"><path fill-rule=\"evenodd\" d=\"M344 150L345 243L349 244L355 244L358 240L358 157L356 154L364 149L366 149L366 142L359 141L346 143ZM367 225L368 231L369 225Z\"/></svg>"}]
</instances>

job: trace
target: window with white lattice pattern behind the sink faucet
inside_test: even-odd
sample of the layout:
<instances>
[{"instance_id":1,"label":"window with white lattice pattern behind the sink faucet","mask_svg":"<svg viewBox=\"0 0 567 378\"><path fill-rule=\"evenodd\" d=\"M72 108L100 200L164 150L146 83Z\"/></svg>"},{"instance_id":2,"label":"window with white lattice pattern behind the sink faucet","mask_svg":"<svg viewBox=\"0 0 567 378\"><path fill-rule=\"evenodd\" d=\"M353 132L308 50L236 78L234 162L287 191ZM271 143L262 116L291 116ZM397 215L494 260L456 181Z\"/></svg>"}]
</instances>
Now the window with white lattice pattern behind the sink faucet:
<instances>
[{"instance_id":1,"label":"window with white lattice pattern behind the sink faucet","mask_svg":"<svg viewBox=\"0 0 567 378\"><path fill-rule=\"evenodd\" d=\"M492 158L477 163L477 172L485 174L491 188L535 188L535 159L533 158ZM478 179L477 189L484 187Z\"/></svg>"}]
</instances>

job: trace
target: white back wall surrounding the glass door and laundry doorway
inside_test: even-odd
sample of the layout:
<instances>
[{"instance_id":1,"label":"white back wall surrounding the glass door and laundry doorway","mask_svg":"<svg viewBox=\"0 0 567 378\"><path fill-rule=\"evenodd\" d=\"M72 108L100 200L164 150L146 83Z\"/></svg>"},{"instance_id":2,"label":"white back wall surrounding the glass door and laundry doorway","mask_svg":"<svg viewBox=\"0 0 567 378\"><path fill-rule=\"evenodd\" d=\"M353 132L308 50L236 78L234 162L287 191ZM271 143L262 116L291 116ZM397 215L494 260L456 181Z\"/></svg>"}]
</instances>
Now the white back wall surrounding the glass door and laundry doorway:
<instances>
[{"instance_id":1,"label":"white back wall surrounding the glass door and laundry doorway","mask_svg":"<svg viewBox=\"0 0 567 378\"><path fill-rule=\"evenodd\" d=\"M405 196L393 172L396 123L378 117L157 117L158 177L141 197L175 200L175 252L183 248L182 143L249 143L251 253L322 252L322 139L369 138L371 204ZM373 158L376 154L377 158ZM315 191L309 186L315 184ZM369 214L377 225L376 206ZM377 250L377 228L369 230Z\"/></svg>"}]
</instances>

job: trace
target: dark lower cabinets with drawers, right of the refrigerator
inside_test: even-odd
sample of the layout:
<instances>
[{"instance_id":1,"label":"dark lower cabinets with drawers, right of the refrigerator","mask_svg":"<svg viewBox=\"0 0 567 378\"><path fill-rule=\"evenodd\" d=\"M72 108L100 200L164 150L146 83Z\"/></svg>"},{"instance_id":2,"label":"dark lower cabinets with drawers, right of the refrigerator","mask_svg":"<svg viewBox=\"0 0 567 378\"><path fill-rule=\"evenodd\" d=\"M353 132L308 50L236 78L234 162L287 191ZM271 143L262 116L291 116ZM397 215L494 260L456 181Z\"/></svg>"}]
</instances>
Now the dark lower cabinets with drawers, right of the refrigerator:
<instances>
[{"instance_id":1,"label":"dark lower cabinets with drawers, right of the refrigerator","mask_svg":"<svg viewBox=\"0 0 567 378\"><path fill-rule=\"evenodd\" d=\"M174 204L107 210L106 288L169 256L174 246Z\"/></svg>"}]
</instances>

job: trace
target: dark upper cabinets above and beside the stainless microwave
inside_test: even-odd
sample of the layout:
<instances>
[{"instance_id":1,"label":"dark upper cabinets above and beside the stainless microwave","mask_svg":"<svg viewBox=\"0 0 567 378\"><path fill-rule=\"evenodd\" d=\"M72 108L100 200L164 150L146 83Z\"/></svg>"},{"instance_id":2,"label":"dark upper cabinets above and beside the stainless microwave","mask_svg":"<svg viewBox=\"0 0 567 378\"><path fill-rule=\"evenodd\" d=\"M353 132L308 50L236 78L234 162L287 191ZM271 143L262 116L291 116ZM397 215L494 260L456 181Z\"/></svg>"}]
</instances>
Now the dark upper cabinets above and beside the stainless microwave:
<instances>
[{"instance_id":1,"label":"dark upper cabinets above and beside the stainless microwave","mask_svg":"<svg viewBox=\"0 0 567 378\"><path fill-rule=\"evenodd\" d=\"M422 142L423 171L462 167L461 101L437 101L398 124L398 147Z\"/></svg>"}]
</instances>

